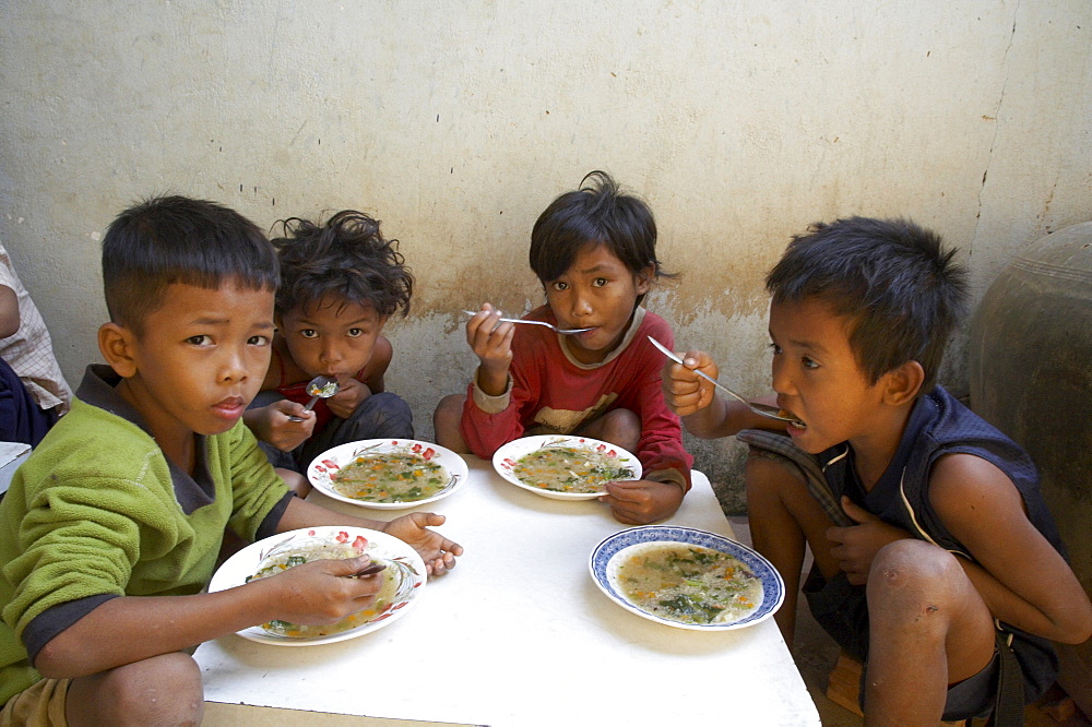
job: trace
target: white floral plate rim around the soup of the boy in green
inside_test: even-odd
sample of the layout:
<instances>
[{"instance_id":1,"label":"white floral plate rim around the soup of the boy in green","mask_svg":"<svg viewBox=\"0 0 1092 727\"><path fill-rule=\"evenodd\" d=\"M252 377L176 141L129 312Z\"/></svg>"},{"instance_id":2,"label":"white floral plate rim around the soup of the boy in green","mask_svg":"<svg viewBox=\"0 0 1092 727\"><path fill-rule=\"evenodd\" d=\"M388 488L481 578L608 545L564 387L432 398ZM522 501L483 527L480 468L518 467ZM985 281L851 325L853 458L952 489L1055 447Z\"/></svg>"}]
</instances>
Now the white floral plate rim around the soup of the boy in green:
<instances>
[{"instance_id":1,"label":"white floral plate rim around the soup of the boy in green","mask_svg":"<svg viewBox=\"0 0 1092 727\"><path fill-rule=\"evenodd\" d=\"M364 545L364 555L370 556L372 560L387 562L387 570L382 572L383 577L395 580L394 595L391 601L383 606L378 613L353 629L323 636L286 636L266 631L261 625L253 625L237 633L244 639L265 644L277 644L278 646L312 646L363 636L405 616L410 607L417 603L426 583L425 561L417 555L417 551L393 535L363 527L310 527L281 533L252 543L228 558L216 570L209 583L209 593L226 591L245 584L250 576L258 572L262 561L271 552L311 539L325 543L331 540L352 543L357 537L364 537L367 540L367 544Z\"/></svg>"}]
</instances>

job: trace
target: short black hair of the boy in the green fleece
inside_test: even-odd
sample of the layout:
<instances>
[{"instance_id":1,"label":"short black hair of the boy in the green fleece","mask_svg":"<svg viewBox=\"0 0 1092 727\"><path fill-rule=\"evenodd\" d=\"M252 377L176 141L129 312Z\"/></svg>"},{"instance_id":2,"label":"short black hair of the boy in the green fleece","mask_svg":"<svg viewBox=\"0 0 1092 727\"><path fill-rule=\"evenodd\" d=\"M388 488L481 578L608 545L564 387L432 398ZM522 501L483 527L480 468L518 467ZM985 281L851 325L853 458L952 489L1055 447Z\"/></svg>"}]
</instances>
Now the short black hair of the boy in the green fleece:
<instances>
[{"instance_id":1,"label":"short black hair of the boy in the green fleece","mask_svg":"<svg viewBox=\"0 0 1092 727\"><path fill-rule=\"evenodd\" d=\"M262 230L207 200L153 196L110 223L103 238L103 287L110 320L142 332L167 286L216 288L226 279L275 290L280 266Z\"/></svg>"}]
</instances>

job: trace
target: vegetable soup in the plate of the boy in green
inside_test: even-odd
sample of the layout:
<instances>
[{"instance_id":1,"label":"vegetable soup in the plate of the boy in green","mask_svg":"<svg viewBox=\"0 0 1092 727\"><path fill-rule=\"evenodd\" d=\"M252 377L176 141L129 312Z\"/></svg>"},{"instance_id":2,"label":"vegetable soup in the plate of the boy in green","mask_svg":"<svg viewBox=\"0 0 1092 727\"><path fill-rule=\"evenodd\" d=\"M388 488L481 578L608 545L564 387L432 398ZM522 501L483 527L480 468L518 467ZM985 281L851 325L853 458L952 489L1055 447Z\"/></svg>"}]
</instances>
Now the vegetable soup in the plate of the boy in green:
<instances>
[{"instance_id":1,"label":"vegetable soup in the plate of the boy in green","mask_svg":"<svg viewBox=\"0 0 1092 727\"><path fill-rule=\"evenodd\" d=\"M343 537L344 536L344 537ZM309 563L312 560L343 560L345 558L356 558L364 552L367 540L363 536L357 536L354 540L348 539L346 533L340 533L331 540L312 539L302 543L292 543L282 548L276 548L266 556L258 565L258 571L247 579L247 582L268 579L278 573L283 573L289 568ZM288 621L269 621L262 624L265 631L280 636L290 636L305 639L310 636L325 636L332 633L341 633L363 625L379 616L389 608L391 599L394 597L396 587L395 579L390 574L390 569L381 571L375 577L383 579L383 584L376 594L376 599L368 608L353 613L337 623L325 625L304 625L290 623Z\"/></svg>"}]
</instances>

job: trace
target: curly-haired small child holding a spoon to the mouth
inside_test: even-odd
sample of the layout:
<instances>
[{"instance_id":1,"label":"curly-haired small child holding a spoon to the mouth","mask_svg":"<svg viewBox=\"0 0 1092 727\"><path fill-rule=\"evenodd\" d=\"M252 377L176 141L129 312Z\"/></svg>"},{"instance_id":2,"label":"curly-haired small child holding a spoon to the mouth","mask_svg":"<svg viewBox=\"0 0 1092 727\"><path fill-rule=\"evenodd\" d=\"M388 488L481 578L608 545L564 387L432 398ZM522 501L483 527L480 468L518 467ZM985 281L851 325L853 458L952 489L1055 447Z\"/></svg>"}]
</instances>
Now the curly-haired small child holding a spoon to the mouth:
<instances>
[{"instance_id":1,"label":"curly-haired small child holding a spoon to the mouth","mask_svg":"<svg viewBox=\"0 0 1092 727\"><path fill-rule=\"evenodd\" d=\"M414 278L380 223L344 210L317 224L282 221L273 240L281 261L277 333L261 393L246 414L262 450L297 493L307 466L327 450L363 439L412 439L413 415L384 391L393 349L387 320L410 312ZM337 393L312 410L307 384L319 376Z\"/></svg>"}]
</instances>

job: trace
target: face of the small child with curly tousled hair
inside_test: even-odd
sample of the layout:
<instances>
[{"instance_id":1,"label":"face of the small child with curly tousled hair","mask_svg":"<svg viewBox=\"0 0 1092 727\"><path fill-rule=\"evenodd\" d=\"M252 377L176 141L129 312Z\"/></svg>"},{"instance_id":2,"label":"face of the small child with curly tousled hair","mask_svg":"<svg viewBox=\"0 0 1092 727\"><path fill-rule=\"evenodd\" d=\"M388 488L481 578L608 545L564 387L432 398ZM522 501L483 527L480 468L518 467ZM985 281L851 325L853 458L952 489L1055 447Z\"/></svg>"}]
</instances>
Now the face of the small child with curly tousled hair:
<instances>
[{"instance_id":1,"label":"face of the small child with curly tousled hair","mask_svg":"<svg viewBox=\"0 0 1092 727\"><path fill-rule=\"evenodd\" d=\"M344 381L371 360L387 317L371 306L327 296L285 312L278 323L288 353L308 376Z\"/></svg>"}]
</instances>

